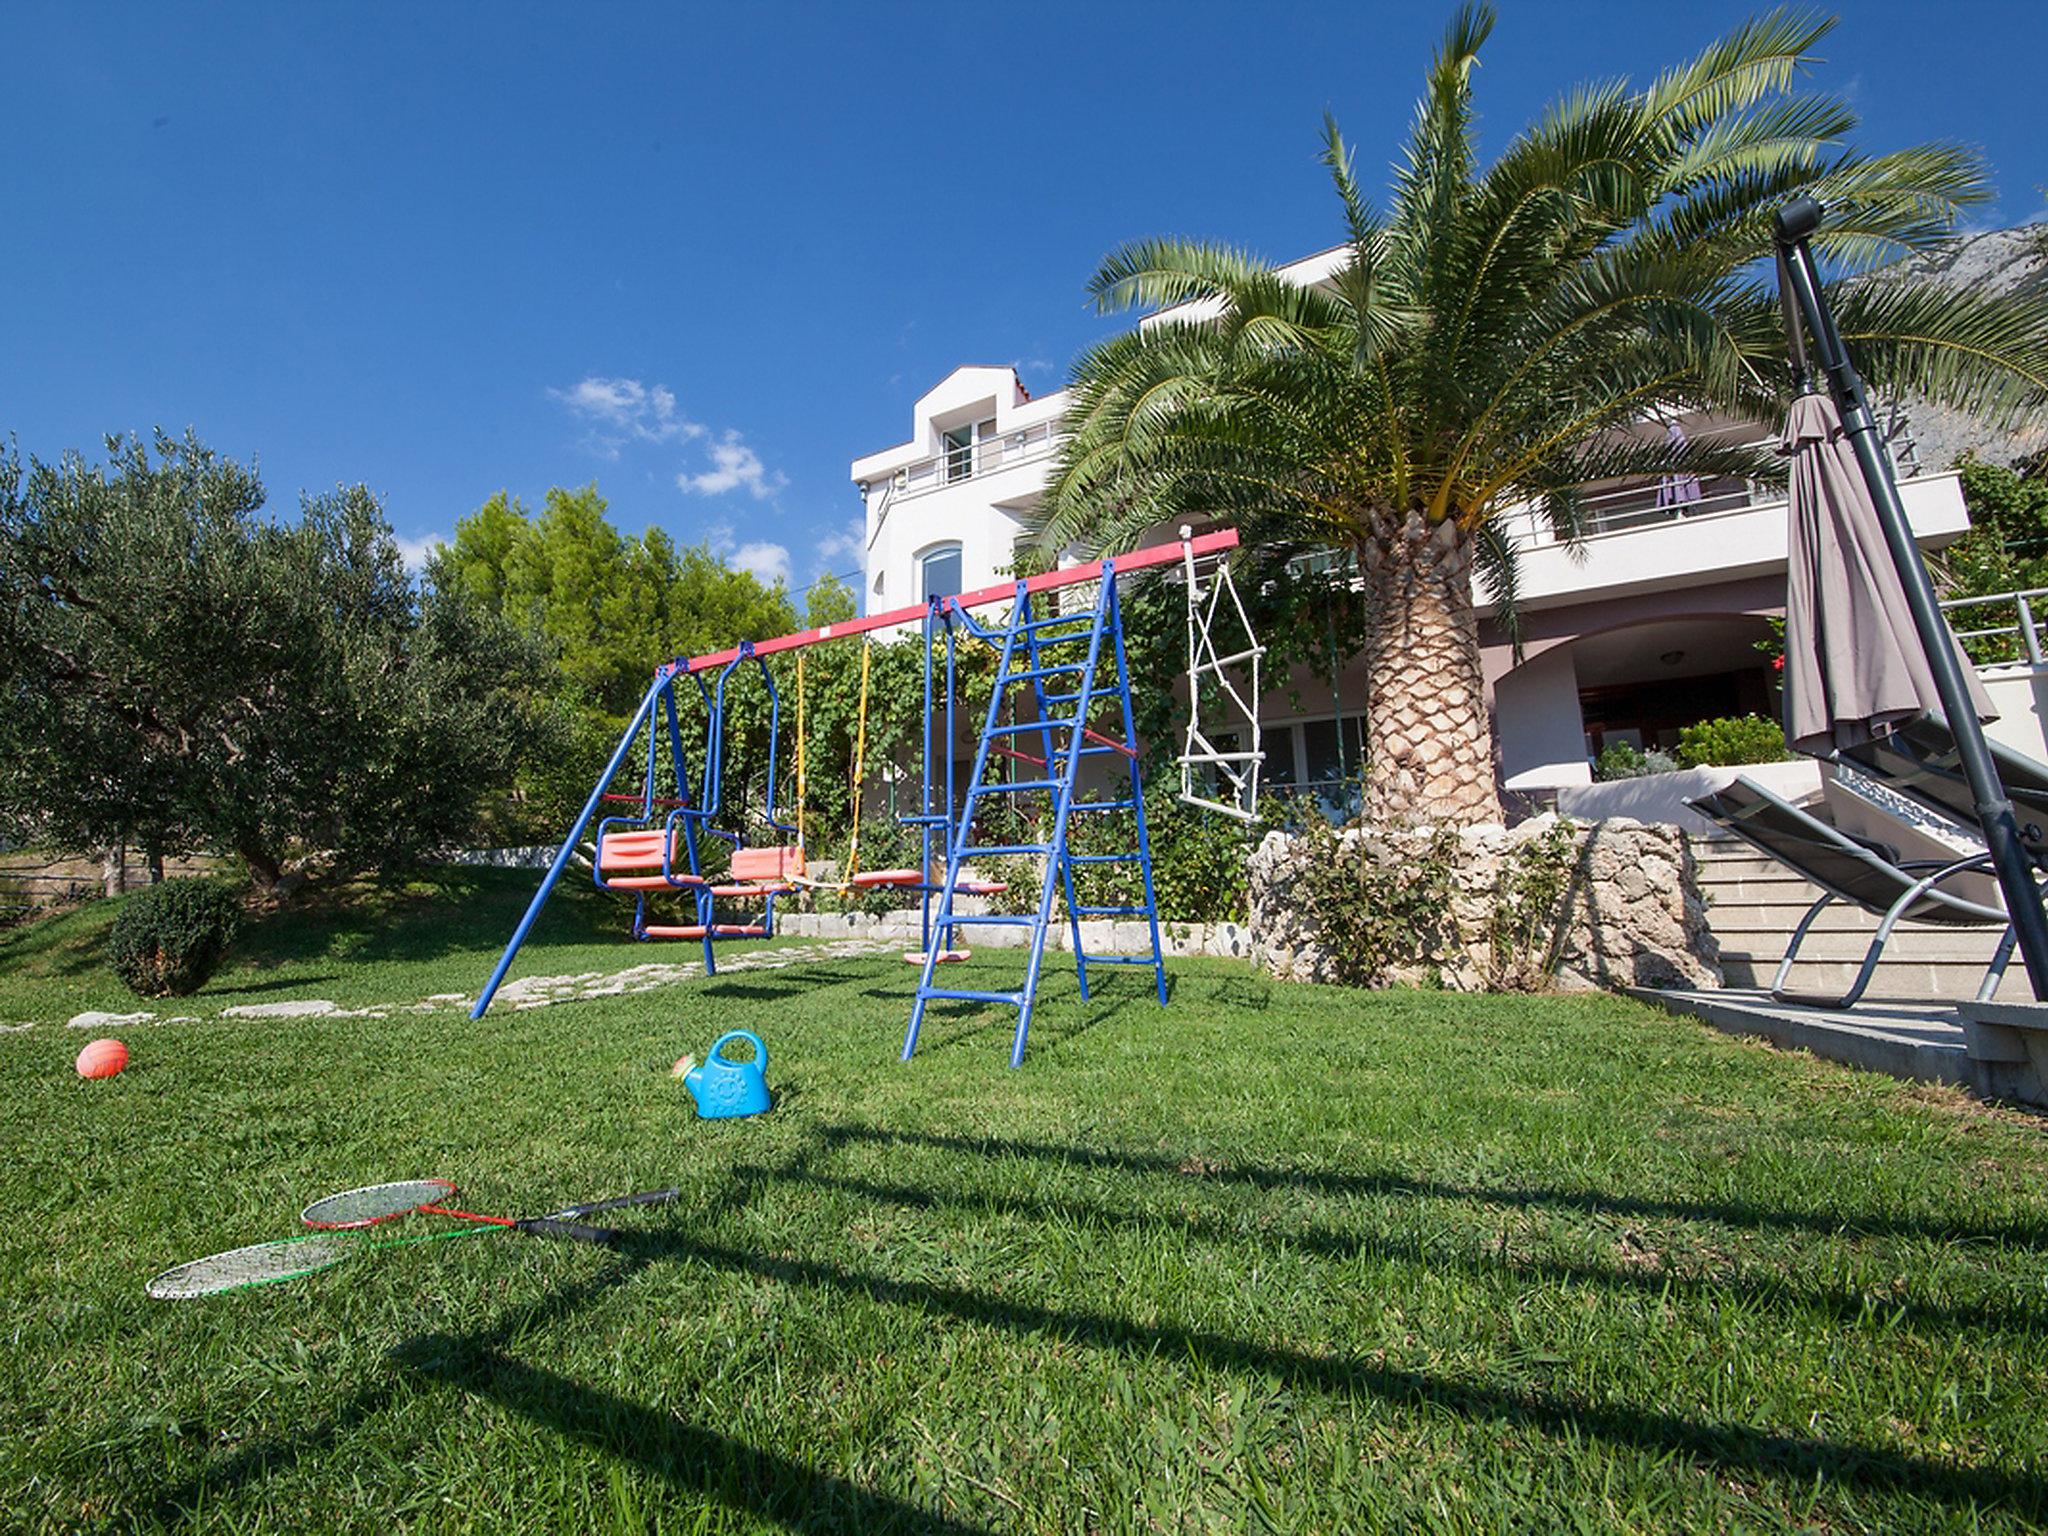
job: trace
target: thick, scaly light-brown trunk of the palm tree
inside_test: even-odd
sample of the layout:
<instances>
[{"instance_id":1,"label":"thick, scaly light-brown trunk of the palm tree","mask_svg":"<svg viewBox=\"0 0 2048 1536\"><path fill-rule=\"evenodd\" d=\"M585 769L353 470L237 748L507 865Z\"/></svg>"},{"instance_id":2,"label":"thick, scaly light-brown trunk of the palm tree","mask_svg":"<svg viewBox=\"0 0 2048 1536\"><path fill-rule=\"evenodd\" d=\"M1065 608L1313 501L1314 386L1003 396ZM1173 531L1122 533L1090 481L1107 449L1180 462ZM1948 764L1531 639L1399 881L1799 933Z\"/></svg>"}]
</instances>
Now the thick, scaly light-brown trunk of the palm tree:
<instances>
[{"instance_id":1,"label":"thick, scaly light-brown trunk of the palm tree","mask_svg":"<svg viewBox=\"0 0 2048 1536\"><path fill-rule=\"evenodd\" d=\"M1358 553L1370 604L1366 815L1499 821L1470 541L1456 522L1386 510L1368 518Z\"/></svg>"}]
</instances>

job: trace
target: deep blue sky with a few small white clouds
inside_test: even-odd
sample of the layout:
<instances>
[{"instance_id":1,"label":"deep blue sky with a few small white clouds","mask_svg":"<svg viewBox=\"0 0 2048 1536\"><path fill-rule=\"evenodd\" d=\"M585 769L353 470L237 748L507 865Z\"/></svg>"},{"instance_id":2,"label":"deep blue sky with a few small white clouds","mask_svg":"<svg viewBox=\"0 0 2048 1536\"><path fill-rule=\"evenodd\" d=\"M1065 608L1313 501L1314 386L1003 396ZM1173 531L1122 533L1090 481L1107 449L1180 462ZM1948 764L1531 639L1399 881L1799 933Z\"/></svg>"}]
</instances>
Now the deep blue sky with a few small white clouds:
<instances>
[{"instance_id":1,"label":"deep blue sky with a few small white clouds","mask_svg":"<svg viewBox=\"0 0 2048 1536\"><path fill-rule=\"evenodd\" d=\"M1489 143L1751 10L1503 0ZM1384 166L1448 14L8 0L0 432L195 426L416 543L596 479L801 588L858 567L846 465L948 369L1042 391L1106 334L1108 248L1333 244L1321 113ZM1851 4L1825 53L1866 150L1972 143L1976 223L2042 215L2048 4Z\"/></svg>"}]
</instances>

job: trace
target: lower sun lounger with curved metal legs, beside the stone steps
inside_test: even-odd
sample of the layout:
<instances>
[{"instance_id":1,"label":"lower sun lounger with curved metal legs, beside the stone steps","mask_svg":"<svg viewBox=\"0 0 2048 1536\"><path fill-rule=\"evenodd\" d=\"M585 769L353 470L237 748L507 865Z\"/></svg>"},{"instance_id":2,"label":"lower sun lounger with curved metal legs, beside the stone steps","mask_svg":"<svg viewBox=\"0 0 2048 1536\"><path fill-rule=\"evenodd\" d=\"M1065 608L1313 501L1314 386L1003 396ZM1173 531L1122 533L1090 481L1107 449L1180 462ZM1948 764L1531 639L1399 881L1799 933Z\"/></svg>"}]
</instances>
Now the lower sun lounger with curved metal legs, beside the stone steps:
<instances>
[{"instance_id":1,"label":"lower sun lounger with curved metal legs, beside the stone steps","mask_svg":"<svg viewBox=\"0 0 2048 1536\"><path fill-rule=\"evenodd\" d=\"M1950 877L1991 868L1991 854L1970 854L1950 862L1939 858L1901 860L1894 848L1868 838L1851 838L1749 778L1737 778L1726 788L1686 803L1708 821L1726 827L1751 848L1769 854L1821 887L1821 899L1806 907L1806 915L1798 920L1792 942L1786 944L1786 954L1778 963L1778 975L1772 977L1772 997L1778 1001L1847 1008L1870 987L1878 958L1901 922L1942 928L2003 928L1999 948L1991 956L1991 965L1985 967L1976 995L1985 999L1999 989L2005 967L2013 958L2013 930L2005 913L1937 889ZM1855 983L1841 997L1794 993L1786 987L1792 961L1798 958L1798 948L1806 942L1815 920L1835 901L1847 901L1880 920L1864 965L1855 973Z\"/></svg>"}]
</instances>

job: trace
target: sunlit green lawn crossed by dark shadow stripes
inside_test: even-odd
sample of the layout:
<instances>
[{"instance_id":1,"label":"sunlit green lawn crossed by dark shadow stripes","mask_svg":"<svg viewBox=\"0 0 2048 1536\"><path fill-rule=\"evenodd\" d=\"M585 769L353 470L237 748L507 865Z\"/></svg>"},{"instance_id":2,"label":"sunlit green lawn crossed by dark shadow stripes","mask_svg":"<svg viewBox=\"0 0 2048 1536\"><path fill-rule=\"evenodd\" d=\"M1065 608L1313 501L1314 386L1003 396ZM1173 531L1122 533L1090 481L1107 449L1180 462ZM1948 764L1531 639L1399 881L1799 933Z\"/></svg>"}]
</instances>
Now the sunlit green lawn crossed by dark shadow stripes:
<instances>
[{"instance_id":1,"label":"sunlit green lawn crossed by dark shadow stripes","mask_svg":"<svg viewBox=\"0 0 2048 1536\"><path fill-rule=\"evenodd\" d=\"M496 899L338 909L326 952L256 932L272 965L225 989L473 989ZM0 950L0 1014L70 1012L66 922ZM643 956L582 922L522 969ZM907 987L821 958L475 1026L141 1028L106 1083L78 1032L0 1036L0 1528L2048 1520L2038 1120L1626 999L1229 963L1176 967L1171 1010L1053 971L1022 1071L995 1014L905 1067ZM668 1063L729 1026L780 1102L698 1122ZM422 1171L485 1210L684 1194L616 1251L485 1235L141 1294Z\"/></svg>"}]
</instances>

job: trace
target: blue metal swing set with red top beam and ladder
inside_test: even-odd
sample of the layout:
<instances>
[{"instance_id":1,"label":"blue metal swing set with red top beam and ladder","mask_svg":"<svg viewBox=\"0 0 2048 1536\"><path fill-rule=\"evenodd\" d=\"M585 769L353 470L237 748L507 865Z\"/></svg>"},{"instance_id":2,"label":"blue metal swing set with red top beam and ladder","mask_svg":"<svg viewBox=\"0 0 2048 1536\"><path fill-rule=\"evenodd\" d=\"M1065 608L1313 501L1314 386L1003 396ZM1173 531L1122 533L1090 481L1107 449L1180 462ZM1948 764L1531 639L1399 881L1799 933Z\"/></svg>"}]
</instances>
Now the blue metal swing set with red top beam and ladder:
<instances>
[{"instance_id":1,"label":"blue metal swing set with red top beam and ladder","mask_svg":"<svg viewBox=\"0 0 2048 1536\"><path fill-rule=\"evenodd\" d=\"M582 848L584 834L592 825L592 852L588 854L592 879L600 891L633 897L633 938L694 940L702 944L707 975L717 973L717 940L774 936L776 901L780 897L791 897L803 889L834 891L840 895L874 889L918 893L922 897L922 942L918 950L907 952L903 958L922 967L922 981L903 1044L905 1061L915 1049L926 1004L930 999L952 997L1016 1006L1018 1032L1012 1065L1022 1061L1030 1004L1036 993L1053 897L1059 885L1065 887L1081 995L1087 995L1087 969L1092 965L1149 965L1155 971L1159 1001L1163 1004L1165 969L1151 889L1151 848L1145 827L1137 750L1133 745L1135 721L1130 711L1130 678L1124 664L1122 616L1116 596L1118 573L1128 575L1130 571L1178 563L1188 586L1188 684L1194 719L1190 721L1186 745L1180 756L1184 774L1182 799L1206 809L1249 817L1257 795L1257 768L1262 762L1257 741L1257 657L1264 651L1249 633L1249 621L1245 618L1243 604L1237 600L1235 588L1229 586L1229 565L1225 563L1225 555L1237 547L1237 530L1223 528L1202 537L1192 537L1188 528L1180 532L1182 539L1176 545L1157 545L1130 555L1047 571L961 596L934 596L915 608L895 608L768 641L741 641L725 651L676 657L659 666L590 799L563 838L541 881L541 889L520 918L489 983L477 995L471 1018L481 1018L489 1008L494 993L512 967L512 958L541 915L541 907L547 903L569 860ZM1077 588L1085 588L1087 584L1094 584L1092 604L1063 602L1063 598L1085 598L1085 590ZM1229 596L1229 610L1235 612L1237 623L1245 631L1245 645L1229 651L1219 649L1210 637L1210 625L1219 614L1227 612L1223 608L1225 594ZM983 625L975 618L977 608L1004 602L1010 604L1010 610L997 623ZM922 625L924 633L922 797L918 811L899 815L897 823L918 829L922 858L918 868L862 870L860 801L868 750L872 637L874 631L913 623ZM850 764L852 825L846 860L838 877L817 879L811 874L805 842L813 762L807 733L803 651L811 645L852 639L856 635L862 647ZM956 662L958 645L965 639L991 645L999 655L999 664L963 797L954 743L958 741ZM776 815L782 696L768 657L782 651L797 653L797 719L795 752L791 758L797 803L793 819ZM1249 698L1225 676L1227 668L1241 668L1247 662L1251 668ZM727 815L723 801L727 793L729 702L737 698L737 680L750 670L760 678L760 688L768 705L766 782L758 809L745 805L737 813ZM705 745L694 774L684 750L682 707L678 705L678 688L684 684L694 684L694 702L700 707L705 723ZM1219 684L1221 696L1237 705L1245 715L1239 723L1241 735L1225 735L1221 750L1200 727L1204 692L1214 698ZM1120 719L1104 721L1108 729L1098 729L1094 719L1094 711L1102 705L1120 705L1120 711L1116 711ZM1030 717L1022 719L1026 709ZM647 739L639 795L614 795L612 782L625 768L643 729ZM1120 735L1114 735L1112 731L1118 729ZM1022 743L1026 737L1034 737L1030 745L1038 748L1036 752L1026 750ZM676 788L674 797L655 793L662 786L664 741ZM991 758L1026 764L1020 772L1036 776L991 780ZM1079 768L1085 758L1114 758L1116 766L1126 770L1128 786L1110 793L1108 799L1087 797L1079 786ZM1219 776L1212 786L1202 786L1208 793L1198 793L1196 770ZM1112 768L1114 774L1116 768ZM748 780L752 782L752 776ZM1053 831L1049 842L975 844L979 801L1032 793L1051 797ZM741 791L741 799L752 797ZM600 815L606 803L627 803L633 809L623 815ZM1018 805L1018 801L1010 803ZM1067 848L1069 817L1073 813L1085 815L1110 809L1128 809L1135 815L1139 846L1116 854L1071 852ZM750 817L764 831L758 842L748 836ZM725 844L723 868L717 868L719 860L711 858L717 844ZM1036 915L991 915L954 907L956 897L989 897L1008 889L1004 883L977 879L969 870L969 860L977 854L1036 854L1044 858ZM1075 891L1075 864L1114 862L1139 864L1143 903L1112 907L1083 905ZM680 897L690 907L688 922L664 922L653 913L649 899L670 895ZM729 909L721 911L721 903L743 903L745 907L758 907L758 911L735 915ZM1083 934L1079 924L1081 918L1098 915L1143 915L1151 928L1151 956L1087 954L1081 946ZM1024 985L1018 991L967 991L936 985L932 979L936 967L969 956L969 950L956 944L958 930L989 924L1032 928Z\"/></svg>"}]
</instances>

